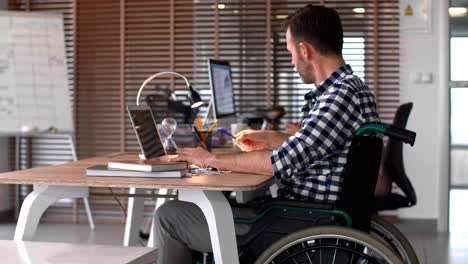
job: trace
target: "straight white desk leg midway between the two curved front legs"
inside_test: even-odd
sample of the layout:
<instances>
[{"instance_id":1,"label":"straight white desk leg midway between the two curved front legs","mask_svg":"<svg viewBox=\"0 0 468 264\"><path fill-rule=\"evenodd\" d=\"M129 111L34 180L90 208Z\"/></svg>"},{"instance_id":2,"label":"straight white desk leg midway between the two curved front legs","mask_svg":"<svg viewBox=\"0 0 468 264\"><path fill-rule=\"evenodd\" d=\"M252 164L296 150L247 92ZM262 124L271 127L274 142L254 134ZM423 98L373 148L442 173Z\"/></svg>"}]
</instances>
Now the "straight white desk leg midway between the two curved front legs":
<instances>
[{"instance_id":1,"label":"straight white desk leg midway between the two curved front legs","mask_svg":"<svg viewBox=\"0 0 468 264\"><path fill-rule=\"evenodd\" d=\"M129 194L144 194L145 189L141 188L130 188ZM125 233L123 245L138 246L138 236L140 235L140 227L143 223L144 213L144 198L130 197L128 198L127 205L127 219L125 221Z\"/></svg>"}]
</instances>

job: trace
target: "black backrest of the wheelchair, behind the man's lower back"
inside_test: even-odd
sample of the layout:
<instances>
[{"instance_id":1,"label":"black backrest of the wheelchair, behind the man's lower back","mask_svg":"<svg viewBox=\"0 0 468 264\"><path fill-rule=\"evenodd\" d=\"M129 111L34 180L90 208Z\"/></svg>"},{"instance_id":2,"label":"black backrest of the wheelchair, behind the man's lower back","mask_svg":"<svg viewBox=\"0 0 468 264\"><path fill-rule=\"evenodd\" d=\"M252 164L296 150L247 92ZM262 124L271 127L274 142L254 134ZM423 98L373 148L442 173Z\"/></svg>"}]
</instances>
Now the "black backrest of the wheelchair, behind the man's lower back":
<instances>
[{"instance_id":1,"label":"black backrest of the wheelchair, behind the man's lower back","mask_svg":"<svg viewBox=\"0 0 468 264\"><path fill-rule=\"evenodd\" d=\"M353 227L368 232L379 174L382 139L355 135L348 153L337 208L351 216Z\"/></svg>"}]
</instances>

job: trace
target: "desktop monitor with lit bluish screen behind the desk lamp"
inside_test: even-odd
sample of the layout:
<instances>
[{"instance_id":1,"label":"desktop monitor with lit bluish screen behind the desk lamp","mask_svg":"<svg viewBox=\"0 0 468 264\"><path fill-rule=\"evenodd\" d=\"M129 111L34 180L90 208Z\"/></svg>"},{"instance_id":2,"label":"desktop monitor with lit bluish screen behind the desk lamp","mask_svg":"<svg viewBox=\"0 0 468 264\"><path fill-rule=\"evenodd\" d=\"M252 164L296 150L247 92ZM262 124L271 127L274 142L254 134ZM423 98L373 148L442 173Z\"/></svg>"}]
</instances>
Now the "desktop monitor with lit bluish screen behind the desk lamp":
<instances>
[{"instance_id":1,"label":"desktop monitor with lit bluish screen behind the desk lamp","mask_svg":"<svg viewBox=\"0 0 468 264\"><path fill-rule=\"evenodd\" d=\"M234 90L229 62L209 60L208 72L216 118L234 115Z\"/></svg>"}]
</instances>

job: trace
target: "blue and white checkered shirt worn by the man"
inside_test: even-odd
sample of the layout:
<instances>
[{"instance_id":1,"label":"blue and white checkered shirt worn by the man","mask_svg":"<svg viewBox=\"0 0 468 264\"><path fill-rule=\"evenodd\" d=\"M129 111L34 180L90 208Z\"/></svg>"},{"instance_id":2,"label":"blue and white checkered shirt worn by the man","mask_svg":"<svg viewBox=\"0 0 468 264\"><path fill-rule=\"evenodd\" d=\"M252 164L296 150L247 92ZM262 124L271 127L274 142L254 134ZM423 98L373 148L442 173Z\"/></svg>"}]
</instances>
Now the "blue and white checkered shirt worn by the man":
<instances>
[{"instance_id":1,"label":"blue and white checkered shirt worn by the man","mask_svg":"<svg viewBox=\"0 0 468 264\"><path fill-rule=\"evenodd\" d=\"M340 197L343 171L354 132L379 121L367 85L340 67L305 96L301 128L270 158L281 182L280 197L334 203Z\"/></svg>"}]
</instances>

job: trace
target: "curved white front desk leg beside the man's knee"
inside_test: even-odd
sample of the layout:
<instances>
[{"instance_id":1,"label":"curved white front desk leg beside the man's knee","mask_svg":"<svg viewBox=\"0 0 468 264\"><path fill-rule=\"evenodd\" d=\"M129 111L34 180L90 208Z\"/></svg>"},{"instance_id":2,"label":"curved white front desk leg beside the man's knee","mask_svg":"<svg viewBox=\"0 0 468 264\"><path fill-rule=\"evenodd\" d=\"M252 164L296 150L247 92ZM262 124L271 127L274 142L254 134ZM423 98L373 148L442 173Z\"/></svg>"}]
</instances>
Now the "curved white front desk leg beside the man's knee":
<instances>
[{"instance_id":1,"label":"curved white front desk leg beside the man's knee","mask_svg":"<svg viewBox=\"0 0 468 264\"><path fill-rule=\"evenodd\" d=\"M208 222L216 264L238 264L234 219L229 202L221 191L179 190L179 200L192 202L202 210Z\"/></svg>"}]
</instances>

